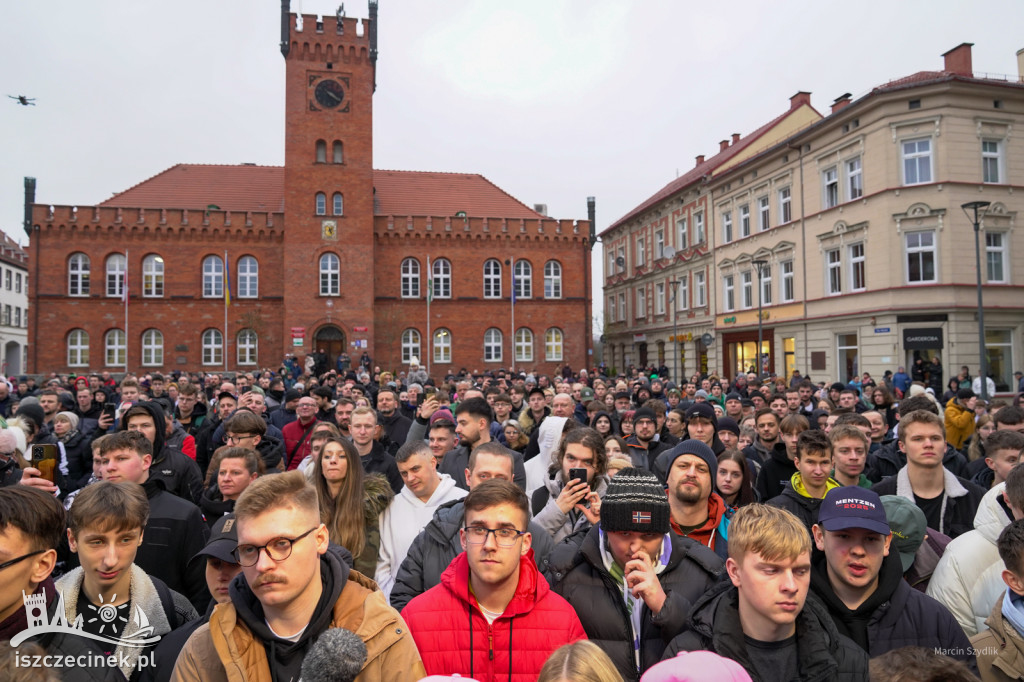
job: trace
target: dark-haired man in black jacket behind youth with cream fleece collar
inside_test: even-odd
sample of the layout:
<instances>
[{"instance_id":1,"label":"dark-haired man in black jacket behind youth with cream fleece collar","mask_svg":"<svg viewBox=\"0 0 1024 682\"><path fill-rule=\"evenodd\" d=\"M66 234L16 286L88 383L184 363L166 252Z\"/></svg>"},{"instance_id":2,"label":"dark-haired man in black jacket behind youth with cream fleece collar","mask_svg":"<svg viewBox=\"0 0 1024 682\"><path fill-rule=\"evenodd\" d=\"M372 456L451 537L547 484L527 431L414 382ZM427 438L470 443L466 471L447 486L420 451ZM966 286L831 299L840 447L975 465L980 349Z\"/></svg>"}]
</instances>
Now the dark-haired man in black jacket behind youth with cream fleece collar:
<instances>
[{"instance_id":1,"label":"dark-haired man in black jacket behind youth with cream fleece collar","mask_svg":"<svg viewBox=\"0 0 1024 682\"><path fill-rule=\"evenodd\" d=\"M210 595L203 566L188 562L210 537L199 507L168 493L164 479L153 475L153 444L141 433L119 431L100 443L97 455L95 473L103 480L138 483L150 501L150 520L135 564L187 597L198 612L204 612Z\"/></svg>"}]
</instances>

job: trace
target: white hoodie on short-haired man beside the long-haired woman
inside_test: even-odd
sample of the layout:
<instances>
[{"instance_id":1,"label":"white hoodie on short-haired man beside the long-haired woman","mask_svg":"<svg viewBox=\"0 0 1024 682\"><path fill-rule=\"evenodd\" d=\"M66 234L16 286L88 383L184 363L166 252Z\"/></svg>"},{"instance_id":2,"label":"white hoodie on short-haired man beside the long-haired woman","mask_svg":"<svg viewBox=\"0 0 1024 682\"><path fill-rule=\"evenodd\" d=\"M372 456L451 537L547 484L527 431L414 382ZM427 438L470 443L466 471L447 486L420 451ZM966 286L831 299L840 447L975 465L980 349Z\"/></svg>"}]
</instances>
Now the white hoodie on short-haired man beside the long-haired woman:
<instances>
[{"instance_id":1,"label":"white hoodie on short-haired man beside the long-haired woman","mask_svg":"<svg viewBox=\"0 0 1024 682\"><path fill-rule=\"evenodd\" d=\"M391 597L391 588L398 577L398 568L409 554L413 541L420 535L430 519L434 510L445 502L461 500L466 497L466 491L455 484L455 479L447 474L438 474L441 481L430 499L423 502L408 486L395 496L387 509L381 512L380 535L381 548L377 558L377 573L374 580L380 586L386 599Z\"/></svg>"}]
</instances>

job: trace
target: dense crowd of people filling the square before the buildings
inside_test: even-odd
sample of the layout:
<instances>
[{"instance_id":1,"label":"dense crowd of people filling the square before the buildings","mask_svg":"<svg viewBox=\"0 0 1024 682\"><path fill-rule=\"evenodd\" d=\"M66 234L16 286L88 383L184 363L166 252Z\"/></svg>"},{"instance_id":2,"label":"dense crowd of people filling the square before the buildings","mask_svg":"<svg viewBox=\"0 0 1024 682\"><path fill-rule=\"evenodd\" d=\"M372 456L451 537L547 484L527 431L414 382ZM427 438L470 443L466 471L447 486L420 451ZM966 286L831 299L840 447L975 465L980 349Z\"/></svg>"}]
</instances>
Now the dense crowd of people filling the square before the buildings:
<instances>
[{"instance_id":1,"label":"dense crowd of people filling the square before the buildings","mask_svg":"<svg viewBox=\"0 0 1024 682\"><path fill-rule=\"evenodd\" d=\"M1024 679L1022 395L930 379L0 381L0 678Z\"/></svg>"}]
</instances>

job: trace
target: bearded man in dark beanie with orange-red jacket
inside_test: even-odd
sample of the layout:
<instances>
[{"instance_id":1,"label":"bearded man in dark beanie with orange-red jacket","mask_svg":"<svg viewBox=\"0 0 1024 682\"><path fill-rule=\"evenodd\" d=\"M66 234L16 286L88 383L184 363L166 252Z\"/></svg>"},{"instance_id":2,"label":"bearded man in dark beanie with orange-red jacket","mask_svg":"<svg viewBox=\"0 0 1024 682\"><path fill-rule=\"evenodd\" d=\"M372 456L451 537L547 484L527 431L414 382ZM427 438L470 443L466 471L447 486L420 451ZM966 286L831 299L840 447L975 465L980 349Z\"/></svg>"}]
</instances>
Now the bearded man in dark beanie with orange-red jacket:
<instances>
[{"instance_id":1,"label":"bearded man in dark beanie with orange-red jacket","mask_svg":"<svg viewBox=\"0 0 1024 682\"><path fill-rule=\"evenodd\" d=\"M715 493L718 458L699 440L684 440L657 458L668 472L672 530L729 556L729 522L733 510Z\"/></svg>"}]
</instances>

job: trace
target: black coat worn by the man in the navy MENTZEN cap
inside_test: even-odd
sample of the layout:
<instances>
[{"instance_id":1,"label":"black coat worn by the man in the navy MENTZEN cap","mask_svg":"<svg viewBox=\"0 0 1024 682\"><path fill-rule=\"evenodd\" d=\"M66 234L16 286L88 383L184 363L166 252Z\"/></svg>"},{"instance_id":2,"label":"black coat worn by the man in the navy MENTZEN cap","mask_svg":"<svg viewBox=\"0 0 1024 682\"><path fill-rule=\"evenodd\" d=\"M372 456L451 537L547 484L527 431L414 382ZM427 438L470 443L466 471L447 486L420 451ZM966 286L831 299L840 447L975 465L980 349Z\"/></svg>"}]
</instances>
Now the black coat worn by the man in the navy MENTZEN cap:
<instances>
[{"instance_id":1,"label":"black coat worn by the man in the navy MENTZEN cap","mask_svg":"<svg viewBox=\"0 0 1024 682\"><path fill-rule=\"evenodd\" d=\"M872 658L904 646L923 646L976 665L971 642L949 609L903 580L896 551L882 562L878 589L854 611L833 590L824 554L813 562L811 590L828 609L837 630Z\"/></svg>"}]
</instances>

